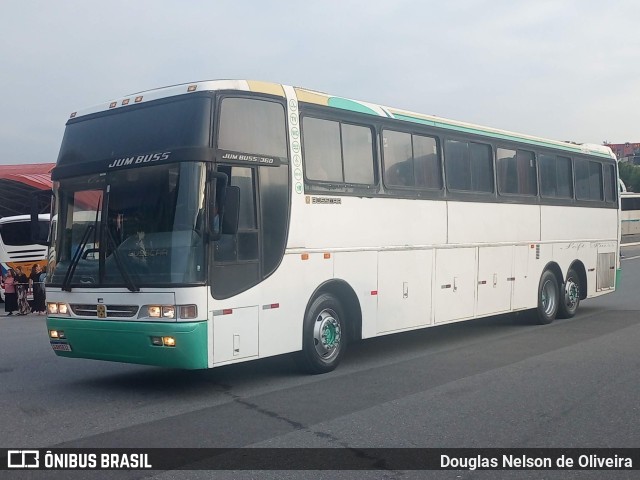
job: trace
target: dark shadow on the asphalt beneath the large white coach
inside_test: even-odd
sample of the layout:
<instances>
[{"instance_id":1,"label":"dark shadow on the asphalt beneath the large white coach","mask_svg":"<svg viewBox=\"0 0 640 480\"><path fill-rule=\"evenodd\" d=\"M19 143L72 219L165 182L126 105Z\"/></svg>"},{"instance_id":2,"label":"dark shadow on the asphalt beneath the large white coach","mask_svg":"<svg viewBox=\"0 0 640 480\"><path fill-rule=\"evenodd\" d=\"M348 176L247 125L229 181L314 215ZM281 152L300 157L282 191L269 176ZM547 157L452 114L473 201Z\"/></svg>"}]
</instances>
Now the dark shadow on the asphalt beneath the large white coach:
<instances>
[{"instance_id":1,"label":"dark shadow on the asphalt beneath the large white coach","mask_svg":"<svg viewBox=\"0 0 640 480\"><path fill-rule=\"evenodd\" d=\"M460 346L468 341L481 341L484 336L494 336L496 330L510 333L524 327L535 327L530 312L497 315L465 322L438 325L406 332L394 333L351 343L338 369L368 368L381 361L392 361L398 355L428 353L447 347ZM309 376L298 361L298 354L274 357L227 365L209 370L178 370L160 367L127 365L127 371L118 371L119 364L107 364L109 373L78 380L85 388L109 392L136 392L168 398L188 398L200 395L231 395L238 387L264 386L271 382L292 380L299 383Z\"/></svg>"}]
</instances>

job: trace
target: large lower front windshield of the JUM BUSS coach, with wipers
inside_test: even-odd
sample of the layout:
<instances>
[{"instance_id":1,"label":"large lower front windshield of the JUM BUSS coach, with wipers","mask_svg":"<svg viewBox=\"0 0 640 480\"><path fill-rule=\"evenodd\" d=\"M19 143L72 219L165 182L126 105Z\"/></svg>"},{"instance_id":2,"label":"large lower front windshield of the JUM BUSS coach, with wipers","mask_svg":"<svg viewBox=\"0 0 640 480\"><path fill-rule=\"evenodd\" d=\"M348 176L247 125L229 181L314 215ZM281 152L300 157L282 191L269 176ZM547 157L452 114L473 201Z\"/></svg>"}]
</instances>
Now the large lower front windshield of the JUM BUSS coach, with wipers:
<instances>
[{"instance_id":1,"label":"large lower front windshield of the JUM BUSS coach, with wipers","mask_svg":"<svg viewBox=\"0 0 640 480\"><path fill-rule=\"evenodd\" d=\"M60 180L51 285L204 282L205 179L204 163L184 162Z\"/></svg>"}]
</instances>

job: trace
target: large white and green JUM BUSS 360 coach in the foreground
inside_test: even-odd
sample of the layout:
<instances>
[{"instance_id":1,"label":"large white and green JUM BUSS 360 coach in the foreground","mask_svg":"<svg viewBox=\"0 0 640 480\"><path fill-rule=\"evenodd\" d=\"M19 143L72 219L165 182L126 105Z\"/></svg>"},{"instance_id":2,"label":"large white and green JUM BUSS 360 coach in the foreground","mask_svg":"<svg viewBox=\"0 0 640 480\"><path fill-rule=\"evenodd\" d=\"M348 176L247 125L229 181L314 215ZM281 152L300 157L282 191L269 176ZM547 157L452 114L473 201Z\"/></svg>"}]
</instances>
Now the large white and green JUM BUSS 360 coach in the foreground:
<instances>
[{"instance_id":1,"label":"large white and green JUM BUSS 360 coach in the foreground","mask_svg":"<svg viewBox=\"0 0 640 480\"><path fill-rule=\"evenodd\" d=\"M71 114L52 172L55 353L187 369L615 289L609 148L257 81Z\"/></svg>"}]
</instances>

